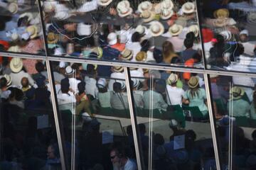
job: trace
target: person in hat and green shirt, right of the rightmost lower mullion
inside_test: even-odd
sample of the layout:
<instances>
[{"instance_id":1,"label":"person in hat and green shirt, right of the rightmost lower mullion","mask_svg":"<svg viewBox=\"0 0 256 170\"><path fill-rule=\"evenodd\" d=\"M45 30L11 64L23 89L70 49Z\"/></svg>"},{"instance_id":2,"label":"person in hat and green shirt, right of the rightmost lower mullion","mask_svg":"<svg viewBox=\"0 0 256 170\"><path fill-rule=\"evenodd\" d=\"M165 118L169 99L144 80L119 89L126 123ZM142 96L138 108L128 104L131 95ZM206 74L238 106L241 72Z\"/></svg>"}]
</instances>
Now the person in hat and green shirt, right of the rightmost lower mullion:
<instances>
[{"instance_id":1,"label":"person in hat and green shirt, right of the rightmost lower mullion","mask_svg":"<svg viewBox=\"0 0 256 170\"><path fill-rule=\"evenodd\" d=\"M233 116L245 116L250 118L250 103L242 98L246 95L245 91L239 86L234 86L230 89L230 94L230 100L227 105L228 113Z\"/></svg>"}]
</instances>

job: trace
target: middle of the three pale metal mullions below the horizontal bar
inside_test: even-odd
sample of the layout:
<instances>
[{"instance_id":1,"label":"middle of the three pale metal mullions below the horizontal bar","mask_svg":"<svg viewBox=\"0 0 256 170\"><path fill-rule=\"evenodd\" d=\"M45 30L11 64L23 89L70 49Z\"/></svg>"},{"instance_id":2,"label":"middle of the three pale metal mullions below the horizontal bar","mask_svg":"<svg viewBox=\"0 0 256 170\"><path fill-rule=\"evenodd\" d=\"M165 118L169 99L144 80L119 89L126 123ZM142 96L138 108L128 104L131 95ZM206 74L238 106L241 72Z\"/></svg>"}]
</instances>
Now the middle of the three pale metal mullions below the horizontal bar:
<instances>
[{"instance_id":1,"label":"middle of the three pale metal mullions below the horizontal bar","mask_svg":"<svg viewBox=\"0 0 256 170\"><path fill-rule=\"evenodd\" d=\"M142 144L139 137L139 130L137 127L137 118L136 118L136 111L134 105L134 97L131 91L131 75L129 73L129 68L124 67L124 74L125 74L125 84L127 86L127 97L129 103L129 113L132 122L132 133L134 138L134 147L136 152L136 159L138 164L138 169L144 169L144 162L142 157Z\"/></svg>"}]
</instances>

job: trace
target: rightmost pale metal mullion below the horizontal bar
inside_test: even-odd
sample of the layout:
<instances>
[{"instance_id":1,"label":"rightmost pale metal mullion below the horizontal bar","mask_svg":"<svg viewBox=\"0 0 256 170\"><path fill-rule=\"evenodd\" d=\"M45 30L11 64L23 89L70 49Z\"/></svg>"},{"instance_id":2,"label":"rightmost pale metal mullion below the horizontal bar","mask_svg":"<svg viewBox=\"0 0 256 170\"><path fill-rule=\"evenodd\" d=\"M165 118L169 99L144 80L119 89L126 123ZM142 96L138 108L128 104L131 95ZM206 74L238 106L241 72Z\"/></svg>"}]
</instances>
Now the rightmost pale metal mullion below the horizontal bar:
<instances>
[{"instance_id":1,"label":"rightmost pale metal mullion below the horizontal bar","mask_svg":"<svg viewBox=\"0 0 256 170\"><path fill-rule=\"evenodd\" d=\"M220 170L220 150L218 147L218 142L216 138L216 127L215 127L215 118L214 118L214 113L213 113L213 102L210 92L210 76L209 74L203 74L205 84L206 84L206 96L207 96L207 104L208 104L208 111L209 111L209 118L210 118L210 130L212 133L213 137L213 148L214 148L214 154L215 154L215 162L216 162L216 167L218 170Z\"/></svg>"}]
</instances>

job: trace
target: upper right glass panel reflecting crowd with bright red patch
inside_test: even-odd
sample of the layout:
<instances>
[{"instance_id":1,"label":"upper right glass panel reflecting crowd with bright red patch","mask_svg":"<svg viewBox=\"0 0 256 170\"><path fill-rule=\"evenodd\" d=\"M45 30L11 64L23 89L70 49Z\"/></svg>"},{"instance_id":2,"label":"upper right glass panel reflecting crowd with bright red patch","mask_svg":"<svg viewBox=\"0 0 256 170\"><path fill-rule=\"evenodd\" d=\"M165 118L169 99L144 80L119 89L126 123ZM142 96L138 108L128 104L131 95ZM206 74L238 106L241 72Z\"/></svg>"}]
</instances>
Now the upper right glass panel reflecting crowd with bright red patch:
<instances>
[{"instance_id":1,"label":"upper right glass panel reflecting crowd with bright red patch","mask_svg":"<svg viewBox=\"0 0 256 170\"><path fill-rule=\"evenodd\" d=\"M256 72L255 2L205 0L200 11L207 68Z\"/></svg>"}]
</instances>

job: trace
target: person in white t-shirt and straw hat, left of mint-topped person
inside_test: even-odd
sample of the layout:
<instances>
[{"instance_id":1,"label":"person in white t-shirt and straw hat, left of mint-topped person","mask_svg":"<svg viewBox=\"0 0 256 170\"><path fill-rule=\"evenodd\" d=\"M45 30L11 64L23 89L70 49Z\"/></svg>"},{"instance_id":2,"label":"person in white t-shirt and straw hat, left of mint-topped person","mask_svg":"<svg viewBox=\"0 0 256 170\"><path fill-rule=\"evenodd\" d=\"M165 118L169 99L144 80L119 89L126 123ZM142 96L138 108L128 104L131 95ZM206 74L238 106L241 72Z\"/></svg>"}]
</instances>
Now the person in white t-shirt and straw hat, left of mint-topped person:
<instances>
[{"instance_id":1,"label":"person in white t-shirt and straw hat, left of mint-topped person","mask_svg":"<svg viewBox=\"0 0 256 170\"><path fill-rule=\"evenodd\" d=\"M185 94L183 89L176 86L178 81L178 75L171 73L169 78L166 80L166 101L168 105L180 105L182 104L182 98Z\"/></svg>"}]
</instances>

